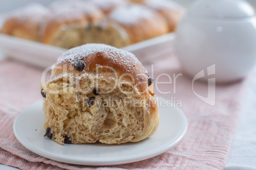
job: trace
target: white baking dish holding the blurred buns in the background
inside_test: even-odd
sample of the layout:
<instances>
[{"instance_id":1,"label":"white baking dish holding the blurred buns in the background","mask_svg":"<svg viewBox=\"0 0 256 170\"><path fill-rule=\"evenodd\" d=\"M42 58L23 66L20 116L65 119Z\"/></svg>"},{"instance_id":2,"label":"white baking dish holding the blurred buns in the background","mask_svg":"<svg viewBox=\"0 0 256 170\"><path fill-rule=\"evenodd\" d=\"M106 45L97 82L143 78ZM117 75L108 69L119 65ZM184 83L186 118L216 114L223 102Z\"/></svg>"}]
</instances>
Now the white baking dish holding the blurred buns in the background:
<instances>
[{"instance_id":1,"label":"white baking dish holding the blurred buns in the background","mask_svg":"<svg viewBox=\"0 0 256 170\"><path fill-rule=\"evenodd\" d=\"M150 62L157 56L171 53L174 38L175 34L170 33L132 44L123 49L134 53L142 63ZM66 50L40 42L0 34L0 51L4 55L38 67L49 67Z\"/></svg>"}]
</instances>

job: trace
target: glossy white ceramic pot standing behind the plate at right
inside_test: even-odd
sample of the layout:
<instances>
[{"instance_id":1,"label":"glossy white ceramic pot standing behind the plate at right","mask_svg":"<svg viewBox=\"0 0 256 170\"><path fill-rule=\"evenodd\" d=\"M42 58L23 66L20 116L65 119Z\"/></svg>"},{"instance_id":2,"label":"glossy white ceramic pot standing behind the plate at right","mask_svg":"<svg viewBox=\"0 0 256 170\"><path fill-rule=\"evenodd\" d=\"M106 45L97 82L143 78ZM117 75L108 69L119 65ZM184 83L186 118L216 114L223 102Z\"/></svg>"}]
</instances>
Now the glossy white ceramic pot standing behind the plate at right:
<instances>
[{"instance_id":1,"label":"glossy white ceramic pot standing behind the plate at right","mask_svg":"<svg viewBox=\"0 0 256 170\"><path fill-rule=\"evenodd\" d=\"M196 1L176 34L176 53L192 77L215 64L217 82L236 81L256 63L256 18L246 1Z\"/></svg>"}]
</instances>

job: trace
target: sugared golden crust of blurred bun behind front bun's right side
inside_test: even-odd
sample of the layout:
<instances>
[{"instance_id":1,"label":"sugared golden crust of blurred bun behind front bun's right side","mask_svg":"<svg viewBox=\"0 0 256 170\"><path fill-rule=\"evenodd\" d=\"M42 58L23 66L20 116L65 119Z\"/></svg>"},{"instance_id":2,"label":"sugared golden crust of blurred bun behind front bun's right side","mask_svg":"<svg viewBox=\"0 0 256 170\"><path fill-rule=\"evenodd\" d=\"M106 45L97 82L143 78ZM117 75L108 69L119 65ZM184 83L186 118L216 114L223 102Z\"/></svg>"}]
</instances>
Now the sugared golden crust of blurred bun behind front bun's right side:
<instances>
[{"instance_id":1,"label":"sugared golden crust of blurred bun behind front bun's right side","mask_svg":"<svg viewBox=\"0 0 256 170\"><path fill-rule=\"evenodd\" d=\"M127 31L131 44L167 34L166 20L146 6L131 4L110 14L111 22Z\"/></svg>"}]
</instances>

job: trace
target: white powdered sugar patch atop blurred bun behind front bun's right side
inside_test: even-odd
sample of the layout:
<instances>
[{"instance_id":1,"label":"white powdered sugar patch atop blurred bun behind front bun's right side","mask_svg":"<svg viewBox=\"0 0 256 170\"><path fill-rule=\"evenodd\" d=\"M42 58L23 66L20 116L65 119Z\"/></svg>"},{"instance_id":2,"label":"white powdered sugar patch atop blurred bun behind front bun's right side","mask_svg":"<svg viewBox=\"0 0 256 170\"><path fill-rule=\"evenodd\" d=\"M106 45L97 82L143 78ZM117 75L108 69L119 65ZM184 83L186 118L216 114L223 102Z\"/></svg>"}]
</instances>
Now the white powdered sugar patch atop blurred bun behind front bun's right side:
<instances>
[{"instance_id":1,"label":"white powdered sugar patch atop blurred bun behind front bun's right side","mask_svg":"<svg viewBox=\"0 0 256 170\"><path fill-rule=\"evenodd\" d=\"M122 6L116 8L110 14L110 18L119 23L131 24L138 23L140 20L145 18L152 18L155 14L155 11L147 8L146 6L131 4L128 6Z\"/></svg>"}]
</instances>

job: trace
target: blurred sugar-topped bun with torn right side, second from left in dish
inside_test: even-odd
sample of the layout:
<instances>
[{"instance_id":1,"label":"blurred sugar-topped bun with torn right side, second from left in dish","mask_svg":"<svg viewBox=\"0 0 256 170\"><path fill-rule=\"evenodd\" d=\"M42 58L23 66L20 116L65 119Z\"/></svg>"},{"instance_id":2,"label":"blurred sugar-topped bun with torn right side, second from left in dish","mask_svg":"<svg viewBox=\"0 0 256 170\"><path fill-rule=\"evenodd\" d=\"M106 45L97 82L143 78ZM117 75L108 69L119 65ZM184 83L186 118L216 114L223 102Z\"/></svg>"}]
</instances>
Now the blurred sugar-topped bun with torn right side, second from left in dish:
<instances>
[{"instance_id":1,"label":"blurred sugar-topped bun with torn right side, second from left in dish","mask_svg":"<svg viewBox=\"0 0 256 170\"><path fill-rule=\"evenodd\" d=\"M82 45L88 25L99 23L104 17L97 6L87 1L57 1L50 9L52 15L42 29L43 42L62 48Z\"/></svg>"}]
</instances>

